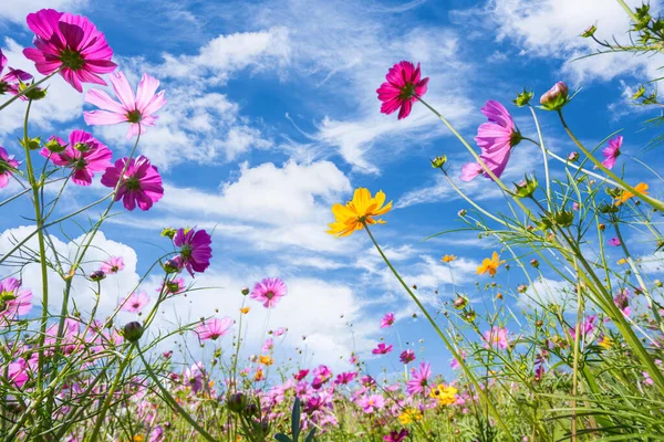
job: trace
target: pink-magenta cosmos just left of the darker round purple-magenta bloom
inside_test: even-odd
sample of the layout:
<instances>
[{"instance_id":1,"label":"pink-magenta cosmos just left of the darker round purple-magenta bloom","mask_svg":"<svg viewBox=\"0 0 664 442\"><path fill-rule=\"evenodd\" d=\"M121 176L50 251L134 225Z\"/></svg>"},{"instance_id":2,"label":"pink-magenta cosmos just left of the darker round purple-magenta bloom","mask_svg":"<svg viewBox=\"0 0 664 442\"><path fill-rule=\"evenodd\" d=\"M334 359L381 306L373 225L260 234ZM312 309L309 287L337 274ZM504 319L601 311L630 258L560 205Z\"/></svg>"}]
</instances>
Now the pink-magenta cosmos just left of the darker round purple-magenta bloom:
<instances>
[{"instance_id":1,"label":"pink-magenta cosmos just left of the darker round purple-magenta bloom","mask_svg":"<svg viewBox=\"0 0 664 442\"><path fill-rule=\"evenodd\" d=\"M64 145L62 138L52 137L59 145ZM92 134L74 130L70 134L69 145L61 152L52 152L43 148L42 157L51 159L55 166L71 167L72 181L79 186L92 185L94 172L101 172L111 167L113 154ZM104 272L106 273L106 272Z\"/></svg>"}]
</instances>

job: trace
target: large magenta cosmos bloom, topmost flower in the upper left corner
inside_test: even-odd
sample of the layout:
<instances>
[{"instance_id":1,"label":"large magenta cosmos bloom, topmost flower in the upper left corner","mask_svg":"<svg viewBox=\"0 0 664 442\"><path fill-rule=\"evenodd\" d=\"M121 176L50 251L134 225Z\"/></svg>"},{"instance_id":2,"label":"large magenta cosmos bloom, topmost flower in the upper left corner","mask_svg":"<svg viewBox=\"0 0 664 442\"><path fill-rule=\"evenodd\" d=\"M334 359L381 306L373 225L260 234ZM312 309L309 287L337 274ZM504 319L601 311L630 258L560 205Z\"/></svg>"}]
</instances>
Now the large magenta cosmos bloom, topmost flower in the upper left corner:
<instances>
[{"instance_id":1,"label":"large magenta cosmos bloom, topmost flower in the upper left corner","mask_svg":"<svg viewBox=\"0 0 664 442\"><path fill-rule=\"evenodd\" d=\"M37 48L24 49L23 55L34 62L40 74L61 70L60 75L83 92L81 83L105 85L97 74L115 70L106 38L85 17L42 9L28 14L28 28L35 33Z\"/></svg>"}]
</instances>

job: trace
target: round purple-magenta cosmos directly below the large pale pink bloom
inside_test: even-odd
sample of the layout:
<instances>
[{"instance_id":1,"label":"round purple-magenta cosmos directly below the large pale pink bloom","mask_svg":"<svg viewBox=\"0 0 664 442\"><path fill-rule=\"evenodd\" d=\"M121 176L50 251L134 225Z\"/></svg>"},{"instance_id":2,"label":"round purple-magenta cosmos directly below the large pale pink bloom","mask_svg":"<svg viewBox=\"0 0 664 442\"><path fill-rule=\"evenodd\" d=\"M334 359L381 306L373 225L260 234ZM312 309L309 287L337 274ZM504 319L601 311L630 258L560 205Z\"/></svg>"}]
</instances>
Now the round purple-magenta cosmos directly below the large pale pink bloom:
<instances>
[{"instance_id":1,"label":"round purple-magenta cosmos directly below the large pale pink bloom","mask_svg":"<svg viewBox=\"0 0 664 442\"><path fill-rule=\"evenodd\" d=\"M136 209L136 204L143 211L149 210L164 196L159 169L143 155L128 160L128 166L127 160L126 157L118 159L115 161L115 166L108 167L102 176L102 185L115 188L126 166L122 183L115 194L115 201L122 199L127 210Z\"/></svg>"}]
</instances>

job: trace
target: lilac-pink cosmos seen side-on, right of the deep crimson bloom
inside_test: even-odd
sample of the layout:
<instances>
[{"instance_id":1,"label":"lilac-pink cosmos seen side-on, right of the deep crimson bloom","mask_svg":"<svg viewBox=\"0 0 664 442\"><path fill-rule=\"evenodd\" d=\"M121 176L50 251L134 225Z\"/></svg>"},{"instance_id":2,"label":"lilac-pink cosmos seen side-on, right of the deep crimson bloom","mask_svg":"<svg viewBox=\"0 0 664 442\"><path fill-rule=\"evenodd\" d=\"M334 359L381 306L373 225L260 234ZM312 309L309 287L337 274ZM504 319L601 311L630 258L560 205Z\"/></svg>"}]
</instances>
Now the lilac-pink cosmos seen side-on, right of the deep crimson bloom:
<instances>
[{"instance_id":1,"label":"lilac-pink cosmos seen side-on, right of the deep crimson bloom","mask_svg":"<svg viewBox=\"0 0 664 442\"><path fill-rule=\"evenodd\" d=\"M489 120L477 128L475 141L481 150L479 157L491 172L500 178L509 161L511 148L522 139L521 133L500 103L489 99L480 110ZM483 172L485 177L490 178L479 164L467 164L461 168L461 180L470 181Z\"/></svg>"}]
</instances>

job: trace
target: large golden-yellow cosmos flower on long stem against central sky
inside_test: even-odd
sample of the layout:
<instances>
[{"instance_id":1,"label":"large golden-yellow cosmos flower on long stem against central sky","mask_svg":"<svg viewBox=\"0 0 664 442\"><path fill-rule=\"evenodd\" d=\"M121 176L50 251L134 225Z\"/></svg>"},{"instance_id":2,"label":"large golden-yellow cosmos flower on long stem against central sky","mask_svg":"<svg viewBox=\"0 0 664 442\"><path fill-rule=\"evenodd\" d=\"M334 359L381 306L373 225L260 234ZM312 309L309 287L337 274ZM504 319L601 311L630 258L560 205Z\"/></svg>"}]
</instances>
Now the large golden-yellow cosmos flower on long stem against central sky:
<instances>
[{"instance_id":1,"label":"large golden-yellow cosmos flower on long stem against central sky","mask_svg":"<svg viewBox=\"0 0 664 442\"><path fill-rule=\"evenodd\" d=\"M378 191L372 198L369 189L355 189L353 200L344 204L336 203L332 206L332 214L335 221L330 223L328 233L336 236L347 236L356 230L364 229L366 224L384 224L385 221L376 220L373 217L380 217L392 210L392 201L386 206L385 193Z\"/></svg>"}]
</instances>

